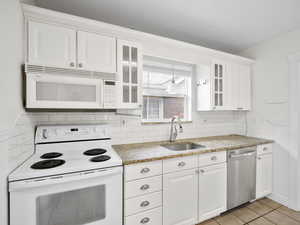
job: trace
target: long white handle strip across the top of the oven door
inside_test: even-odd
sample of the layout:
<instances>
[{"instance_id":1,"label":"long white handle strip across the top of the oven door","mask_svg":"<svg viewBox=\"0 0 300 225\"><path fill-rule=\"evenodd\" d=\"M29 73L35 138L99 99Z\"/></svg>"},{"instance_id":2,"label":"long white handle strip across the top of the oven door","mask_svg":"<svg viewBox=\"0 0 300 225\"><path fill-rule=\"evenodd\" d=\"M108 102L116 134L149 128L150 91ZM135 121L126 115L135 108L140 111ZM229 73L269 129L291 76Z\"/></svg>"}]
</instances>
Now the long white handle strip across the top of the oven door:
<instances>
[{"instance_id":1,"label":"long white handle strip across the top of the oven door","mask_svg":"<svg viewBox=\"0 0 300 225\"><path fill-rule=\"evenodd\" d=\"M89 170L78 173L62 174L50 177L40 177L29 180L14 181L9 183L9 191L21 191L27 188L37 188L42 186L49 186L55 184L63 184L68 182L83 181L85 179L95 179L100 177L113 176L122 174L123 168L107 168L98 170Z\"/></svg>"}]
</instances>

